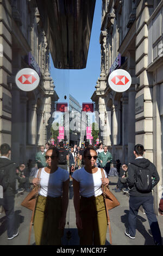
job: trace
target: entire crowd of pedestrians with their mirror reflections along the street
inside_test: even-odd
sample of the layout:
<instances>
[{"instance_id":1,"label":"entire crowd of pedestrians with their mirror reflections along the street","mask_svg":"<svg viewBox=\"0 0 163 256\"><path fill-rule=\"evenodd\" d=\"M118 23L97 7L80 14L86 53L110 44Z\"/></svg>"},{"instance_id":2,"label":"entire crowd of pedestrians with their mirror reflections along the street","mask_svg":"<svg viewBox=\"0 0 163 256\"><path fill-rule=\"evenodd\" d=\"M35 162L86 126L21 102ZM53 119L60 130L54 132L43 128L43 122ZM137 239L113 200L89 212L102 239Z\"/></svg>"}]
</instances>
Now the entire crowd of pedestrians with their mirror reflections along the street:
<instances>
[{"instance_id":1,"label":"entire crowd of pedestrians with their mirror reflections along the street","mask_svg":"<svg viewBox=\"0 0 163 256\"><path fill-rule=\"evenodd\" d=\"M29 160L27 167L9 160L11 149L8 144L0 147L0 185L3 187L3 205L7 218L8 239L18 235L14 221L15 193L30 192L33 185L40 187L34 214L36 245L61 245L68 208L69 182L73 184L73 203L80 245L105 245L107 220L102 194L102 184L109 185L109 176L117 176L115 192L129 193L129 218L126 236L135 239L136 218L140 208L146 212L155 245L161 245L161 233L153 210L152 189L159 182L159 175L153 163L143 157L145 149L137 144L134 148L135 161L127 164L116 160L114 163L107 146L102 143L94 148L85 142L85 147L74 145L65 148L46 143L41 145L35 156L35 166ZM135 181L136 170L148 169L152 187L140 191ZM102 170L104 178L102 178ZM4 172L5 170L5 172ZM29 176L33 176L32 184ZM161 206L159 213L162 215Z\"/></svg>"}]
</instances>

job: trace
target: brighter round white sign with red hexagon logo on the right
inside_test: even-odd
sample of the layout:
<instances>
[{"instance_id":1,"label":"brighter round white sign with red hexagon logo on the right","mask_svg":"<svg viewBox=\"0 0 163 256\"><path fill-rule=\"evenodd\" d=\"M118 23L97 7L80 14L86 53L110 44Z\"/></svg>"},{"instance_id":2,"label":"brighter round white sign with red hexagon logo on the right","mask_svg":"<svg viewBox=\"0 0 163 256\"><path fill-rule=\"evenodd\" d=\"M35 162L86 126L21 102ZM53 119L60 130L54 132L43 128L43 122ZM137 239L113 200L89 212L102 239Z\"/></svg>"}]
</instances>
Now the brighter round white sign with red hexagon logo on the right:
<instances>
[{"instance_id":1,"label":"brighter round white sign with red hexagon logo on the right","mask_svg":"<svg viewBox=\"0 0 163 256\"><path fill-rule=\"evenodd\" d=\"M117 69L111 72L108 82L112 90L122 93L130 88L131 76L126 70Z\"/></svg>"}]
</instances>

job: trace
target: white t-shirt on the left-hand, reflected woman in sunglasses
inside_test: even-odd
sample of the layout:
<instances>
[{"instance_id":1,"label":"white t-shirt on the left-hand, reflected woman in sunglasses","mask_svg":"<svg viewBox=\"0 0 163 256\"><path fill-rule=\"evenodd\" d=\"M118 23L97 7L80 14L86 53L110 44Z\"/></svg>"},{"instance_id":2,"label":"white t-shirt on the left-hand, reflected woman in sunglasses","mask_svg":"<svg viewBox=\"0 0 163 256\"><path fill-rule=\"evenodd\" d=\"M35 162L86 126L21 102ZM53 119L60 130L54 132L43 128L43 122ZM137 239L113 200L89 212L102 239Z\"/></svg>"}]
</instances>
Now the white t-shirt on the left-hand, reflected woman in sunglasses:
<instances>
[{"instance_id":1,"label":"white t-shirt on the left-hand, reflected woman in sunglasses","mask_svg":"<svg viewBox=\"0 0 163 256\"><path fill-rule=\"evenodd\" d=\"M35 178L37 177L37 170ZM60 197L62 195L62 184L69 179L67 170L58 169L54 173L47 173L45 168L41 169L40 175L40 191L39 194L43 197Z\"/></svg>"}]
</instances>

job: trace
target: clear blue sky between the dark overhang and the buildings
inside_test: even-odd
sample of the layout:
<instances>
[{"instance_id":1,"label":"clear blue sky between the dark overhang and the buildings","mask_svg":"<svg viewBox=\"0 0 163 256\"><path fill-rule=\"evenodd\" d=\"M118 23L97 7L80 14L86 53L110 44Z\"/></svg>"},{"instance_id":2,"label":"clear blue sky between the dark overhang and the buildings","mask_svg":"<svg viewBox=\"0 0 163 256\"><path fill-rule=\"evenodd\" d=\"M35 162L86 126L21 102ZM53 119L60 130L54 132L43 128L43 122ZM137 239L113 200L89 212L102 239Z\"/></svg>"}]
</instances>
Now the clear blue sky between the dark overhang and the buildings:
<instances>
[{"instance_id":1,"label":"clear blue sky between the dark overhang and the buildings","mask_svg":"<svg viewBox=\"0 0 163 256\"><path fill-rule=\"evenodd\" d=\"M95 92L96 82L101 71L101 45L99 44L101 5L102 1L96 0L86 68L81 70L59 70L54 68L51 60L51 76L55 90L60 97L58 102L64 102L64 95L69 93L79 101L80 105L82 105L82 102L91 102L90 98Z\"/></svg>"}]
</instances>

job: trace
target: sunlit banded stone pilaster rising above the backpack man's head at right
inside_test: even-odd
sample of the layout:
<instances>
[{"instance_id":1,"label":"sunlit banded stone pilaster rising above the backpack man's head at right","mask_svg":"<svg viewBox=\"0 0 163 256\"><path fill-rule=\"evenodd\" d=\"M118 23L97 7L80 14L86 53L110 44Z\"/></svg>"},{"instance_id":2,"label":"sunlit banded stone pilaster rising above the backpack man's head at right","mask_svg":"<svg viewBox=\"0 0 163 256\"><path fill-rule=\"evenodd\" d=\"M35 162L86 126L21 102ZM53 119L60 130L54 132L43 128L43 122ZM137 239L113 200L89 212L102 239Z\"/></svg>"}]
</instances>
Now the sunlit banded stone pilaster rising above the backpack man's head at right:
<instances>
[{"instance_id":1,"label":"sunlit banded stone pilaster rising above the backpack man's head at right","mask_svg":"<svg viewBox=\"0 0 163 256\"><path fill-rule=\"evenodd\" d=\"M143 95L144 111L136 114L136 137L135 144L141 143L146 149L145 157L153 162L153 103L151 90L152 80L147 73L148 67L148 29L147 21L153 12L153 1L141 0L136 9L136 76L139 78L136 98Z\"/></svg>"}]
</instances>

